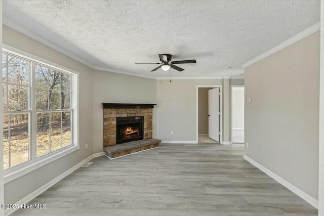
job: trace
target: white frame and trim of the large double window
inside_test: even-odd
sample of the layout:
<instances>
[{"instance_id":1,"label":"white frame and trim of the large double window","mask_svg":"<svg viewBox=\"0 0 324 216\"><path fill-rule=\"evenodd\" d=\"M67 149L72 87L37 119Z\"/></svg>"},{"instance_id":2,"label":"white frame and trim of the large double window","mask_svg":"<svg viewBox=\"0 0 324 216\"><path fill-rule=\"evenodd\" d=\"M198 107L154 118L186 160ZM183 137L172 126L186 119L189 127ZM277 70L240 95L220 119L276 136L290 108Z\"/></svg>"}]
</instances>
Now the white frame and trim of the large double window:
<instances>
[{"instance_id":1,"label":"white frame and trim of the large double window","mask_svg":"<svg viewBox=\"0 0 324 216\"><path fill-rule=\"evenodd\" d=\"M36 124L29 124L31 127L29 127L30 131L30 138L31 138L31 143L30 143L30 149L29 149L29 155L32 157L30 158L31 160L23 162L21 164L15 165L13 167L10 167L6 170L4 170L4 183L11 182L21 176L24 176L28 174L29 172L42 167L48 163L51 163L61 157L64 157L76 150L79 149L79 72L71 70L69 68L66 68L64 66L61 66L59 64L56 64L54 62L48 61L46 59L40 58L38 56L34 56L32 54L29 54L27 52L21 51L19 49L16 49L14 47L8 46L3 44L3 51L12 54L17 57L21 57L23 59L31 61L30 65L30 77L34 76L35 72L35 64L41 64L44 66L48 66L53 69L57 69L58 71L63 71L68 74L72 74L72 79L71 79L71 107L70 110L71 112L71 133L72 133L72 145L63 147L61 149L55 150L53 152L47 153L45 155L36 157L36 148L33 148L36 146L36 140L33 139L35 134L37 132L37 125ZM33 78L34 80L34 78ZM31 85L34 83L31 82ZM30 87L30 93L32 96L35 94L35 88ZM30 96L29 96L30 97ZM35 97L30 97L32 101L29 100L29 103L31 102L34 104L35 102ZM28 121L32 122L32 118L36 117L37 110L36 109L31 109L26 112L31 112L31 118L28 119ZM51 111L49 111L51 112ZM1 116L2 117L2 116ZM3 125L1 125L3 127ZM2 140L3 143L3 140Z\"/></svg>"}]
</instances>

